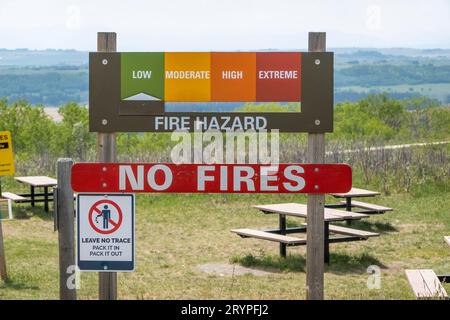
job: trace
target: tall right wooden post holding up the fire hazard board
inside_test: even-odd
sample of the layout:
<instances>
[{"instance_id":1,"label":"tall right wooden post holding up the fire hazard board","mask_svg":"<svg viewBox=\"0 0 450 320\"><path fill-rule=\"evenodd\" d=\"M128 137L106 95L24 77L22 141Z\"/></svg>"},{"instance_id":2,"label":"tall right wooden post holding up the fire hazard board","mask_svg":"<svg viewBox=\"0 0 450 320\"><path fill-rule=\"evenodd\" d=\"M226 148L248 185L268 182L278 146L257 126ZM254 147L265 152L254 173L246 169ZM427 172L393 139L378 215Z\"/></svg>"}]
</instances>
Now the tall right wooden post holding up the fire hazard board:
<instances>
[{"instance_id":1,"label":"tall right wooden post holding up the fire hazard board","mask_svg":"<svg viewBox=\"0 0 450 320\"><path fill-rule=\"evenodd\" d=\"M308 51L322 52L326 50L325 32L310 32ZM308 162L324 163L325 134L308 133ZM308 195L308 218L306 248L306 298L323 300L324 287L324 194Z\"/></svg>"}]
</instances>

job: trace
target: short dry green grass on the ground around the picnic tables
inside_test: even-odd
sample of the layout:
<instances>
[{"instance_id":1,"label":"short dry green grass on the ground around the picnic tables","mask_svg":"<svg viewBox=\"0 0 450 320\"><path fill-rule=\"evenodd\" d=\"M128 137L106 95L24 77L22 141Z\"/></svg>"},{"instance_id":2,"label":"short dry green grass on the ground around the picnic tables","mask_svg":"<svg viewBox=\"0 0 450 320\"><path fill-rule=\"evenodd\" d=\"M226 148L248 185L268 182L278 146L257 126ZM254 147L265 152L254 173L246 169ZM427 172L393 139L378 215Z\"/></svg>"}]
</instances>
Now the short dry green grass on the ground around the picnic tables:
<instances>
[{"instance_id":1,"label":"short dry green grass on the ground around the picnic tables","mask_svg":"<svg viewBox=\"0 0 450 320\"><path fill-rule=\"evenodd\" d=\"M306 248L288 248L241 239L232 228L277 226L253 204L305 202L293 195L139 195L137 267L119 274L121 299L304 299ZM328 202L331 199L328 199ZM331 245L325 270L327 299L413 299L404 269L450 272L450 192L421 196L393 194L370 199L394 212L371 216L353 227L380 232L368 241ZM53 222L41 208L16 206L19 219L3 222L10 280L0 284L0 299L57 299L58 249ZM304 222L289 218L289 224ZM240 263L272 271L266 276L214 276L205 263ZM367 267L381 268L381 289L367 288ZM450 288L446 285L448 291ZM97 298L97 275L82 273L81 299Z\"/></svg>"}]
</instances>

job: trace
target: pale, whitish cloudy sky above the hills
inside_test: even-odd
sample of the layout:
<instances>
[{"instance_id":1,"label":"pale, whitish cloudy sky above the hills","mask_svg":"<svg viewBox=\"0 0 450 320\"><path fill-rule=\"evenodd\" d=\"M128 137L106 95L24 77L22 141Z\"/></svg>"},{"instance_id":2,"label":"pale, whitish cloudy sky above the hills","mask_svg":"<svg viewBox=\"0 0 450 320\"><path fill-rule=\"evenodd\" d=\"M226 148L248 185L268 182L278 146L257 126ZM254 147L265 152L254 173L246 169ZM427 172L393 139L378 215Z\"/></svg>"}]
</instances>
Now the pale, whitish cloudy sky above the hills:
<instances>
[{"instance_id":1,"label":"pale, whitish cloudy sky above the hills","mask_svg":"<svg viewBox=\"0 0 450 320\"><path fill-rule=\"evenodd\" d=\"M450 48L449 0L0 0L0 48L118 51Z\"/></svg>"}]
</instances>

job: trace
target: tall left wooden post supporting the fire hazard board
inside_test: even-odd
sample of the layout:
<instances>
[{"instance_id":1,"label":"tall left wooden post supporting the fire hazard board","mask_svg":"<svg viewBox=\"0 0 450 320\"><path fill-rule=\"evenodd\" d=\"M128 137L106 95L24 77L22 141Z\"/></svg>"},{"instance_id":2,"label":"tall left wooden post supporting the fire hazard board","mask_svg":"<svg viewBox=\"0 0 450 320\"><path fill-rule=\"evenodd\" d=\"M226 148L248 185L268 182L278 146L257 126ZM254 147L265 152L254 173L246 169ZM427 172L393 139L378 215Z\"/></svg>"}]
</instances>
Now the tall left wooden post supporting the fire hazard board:
<instances>
[{"instance_id":1,"label":"tall left wooden post supporting the fire hazard board","mask_svg":"<svg viewBox=\"0 0 450 320\"><path fill-rule=\"evenodd\" d=\"M115 32L99 32L97 34L97 51L115 52L117 50ZM114 107L114 106L111 106ZM116 134L102 133L97 135L97 160L99 162L116 161ZM98 295L100 300L117 299L117 272L99 272Z\"/></svg>"}]
</instances>

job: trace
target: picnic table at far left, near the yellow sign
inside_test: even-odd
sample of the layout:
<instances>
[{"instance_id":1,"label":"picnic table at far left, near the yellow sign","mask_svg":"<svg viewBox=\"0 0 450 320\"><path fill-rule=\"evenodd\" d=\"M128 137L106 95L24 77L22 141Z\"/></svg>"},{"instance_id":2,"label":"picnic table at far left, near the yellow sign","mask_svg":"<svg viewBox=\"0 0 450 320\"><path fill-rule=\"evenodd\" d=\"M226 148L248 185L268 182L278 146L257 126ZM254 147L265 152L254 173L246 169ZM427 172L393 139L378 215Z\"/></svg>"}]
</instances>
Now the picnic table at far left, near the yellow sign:
<instances>
[{"instance_id":1,"label":"picnic table at far left, near the yellow sign","mask_svg":"<svg viewBox=\"0 0 450 320\"><path fill-rule=\"evenodd\" d=\"M57 185L56 179L46 176L29 176L29 177L16 177L14 178L20 183L24 183L30 186L30 193L16 194L12 192L2 192L1 196L5 199L10 199L19 203L31 203L34 207L36 202L44 202L44 209L49 211L49 202L53 201L53 193L49 188ZM36 188L43 188L44 191L36 193Z\"/></svg>"}]
</instances>

